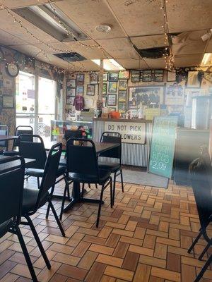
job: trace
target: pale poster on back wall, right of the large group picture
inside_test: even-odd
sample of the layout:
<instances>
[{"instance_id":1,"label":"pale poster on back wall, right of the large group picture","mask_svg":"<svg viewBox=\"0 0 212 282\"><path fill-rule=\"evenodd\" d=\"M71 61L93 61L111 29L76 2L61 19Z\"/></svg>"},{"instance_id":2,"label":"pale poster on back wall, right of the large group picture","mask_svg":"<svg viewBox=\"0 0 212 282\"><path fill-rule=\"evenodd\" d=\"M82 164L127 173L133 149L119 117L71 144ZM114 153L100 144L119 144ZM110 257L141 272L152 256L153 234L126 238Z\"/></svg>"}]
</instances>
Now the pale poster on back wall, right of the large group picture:
<instances>
[{"instance_id":1,"label":"pale poster on back wall, right of the large group picture","mask_svg":"<svg viewBox=\"0 0 212 282\"><path fill-rule=\"evenodd\" d=\"M184 87L177 82L167 82L165 87L165 104L183 105L184 104Z\"/></svg>"}]
</instances>

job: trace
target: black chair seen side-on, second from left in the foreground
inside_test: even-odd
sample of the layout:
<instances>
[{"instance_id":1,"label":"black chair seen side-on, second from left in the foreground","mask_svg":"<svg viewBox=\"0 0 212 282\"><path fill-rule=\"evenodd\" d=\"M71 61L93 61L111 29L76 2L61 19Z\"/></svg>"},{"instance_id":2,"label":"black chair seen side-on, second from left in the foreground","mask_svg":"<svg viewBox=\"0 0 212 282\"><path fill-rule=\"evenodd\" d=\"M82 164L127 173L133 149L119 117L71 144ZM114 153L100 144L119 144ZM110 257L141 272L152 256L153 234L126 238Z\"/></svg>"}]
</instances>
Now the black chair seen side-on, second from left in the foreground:
<instances>
[{"instance_id":1,"label":"black chair seen side-on, second from left in the foreground","mask_svg":"<svg viewBox=\"0 0 212 282\"><path fill-rule=\"evenodd\" d=\"M65 237L64 229L61 226L61 222L57 216L57 212L54 209L54 205L52 204L52 195L49 190L54 187L55 180L57 178L57 170L59 166L59 159L61 156L61 143L57 143L56 145L52 146L49 151L49 155L45 164L44 173L42 176L42 181L40 184L40 189L28 189L25 188L23 190L23 209L22 209L22 216L25 217L27 222L21 222L24 225L29 225L35 240L37 242L38 247L40 248L40 252L42 253L43 258L47 264L48 269L50 269L49 260L47 255L45 254L45 250L40 243L40 239L37 235L35 227L33 226L33 221L30 219L30 216L37 212L37 209L44 206L48 203L48 206L52 209L54 214L54 218L57 221L61 234Z\"/></svg>"}]
</instances>

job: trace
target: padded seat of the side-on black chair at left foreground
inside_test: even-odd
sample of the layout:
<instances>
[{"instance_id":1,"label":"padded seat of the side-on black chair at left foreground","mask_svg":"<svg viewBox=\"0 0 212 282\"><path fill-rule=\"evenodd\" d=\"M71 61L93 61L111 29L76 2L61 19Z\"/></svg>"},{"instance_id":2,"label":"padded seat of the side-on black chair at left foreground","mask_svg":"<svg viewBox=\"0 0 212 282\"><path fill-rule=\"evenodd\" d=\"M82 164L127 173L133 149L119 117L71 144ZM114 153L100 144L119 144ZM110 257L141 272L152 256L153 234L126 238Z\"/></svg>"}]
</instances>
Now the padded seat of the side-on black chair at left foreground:
<instances>
[{"instance_id":1,"label":"padded seat of the side-on black chair at left foreground","mask_svg":"<svg viewBox=\"0 0 212 282\"><path fill-rule=\"evenodd\" d=\"M37 202L38 189L23 189L23 205L22 214L33 212L35 204ZM49 192L46 192L40 199L39 207L42 207L49 200ZM38 208L39 208L38 207Z\"/></svg>"}]
</instances>

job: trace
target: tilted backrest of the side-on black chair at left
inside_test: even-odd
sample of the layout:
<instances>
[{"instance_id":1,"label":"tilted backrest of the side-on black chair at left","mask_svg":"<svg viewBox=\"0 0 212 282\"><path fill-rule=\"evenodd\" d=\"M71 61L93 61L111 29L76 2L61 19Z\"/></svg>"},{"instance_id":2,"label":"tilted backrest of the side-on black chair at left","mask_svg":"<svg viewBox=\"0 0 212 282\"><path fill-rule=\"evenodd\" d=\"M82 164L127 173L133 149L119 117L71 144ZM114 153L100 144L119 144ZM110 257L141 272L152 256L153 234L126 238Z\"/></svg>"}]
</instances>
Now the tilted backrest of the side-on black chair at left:
<instances>
[{"instance_id":1,"label":"tilted backrest of the side-on black chair at left","mask_svg":"<svg viewBox=\"0 0 212 282\"><path fill-rule=\"evenodd\" d=\"M42 198L42 195L45 195L46 192L50 188L52 188L52 186L54 186L54 183L57 178L59 159L61 157L61 149L62 149L61 143L57 143L53 145L49 151L47 161L45 164L44 173L42 176L42 181L40 183L40 189L37 196L37 202L35 204L34 212L36 212L39 207L39 203L40 203L40 199Z\"/></svg>"}]
</instances>

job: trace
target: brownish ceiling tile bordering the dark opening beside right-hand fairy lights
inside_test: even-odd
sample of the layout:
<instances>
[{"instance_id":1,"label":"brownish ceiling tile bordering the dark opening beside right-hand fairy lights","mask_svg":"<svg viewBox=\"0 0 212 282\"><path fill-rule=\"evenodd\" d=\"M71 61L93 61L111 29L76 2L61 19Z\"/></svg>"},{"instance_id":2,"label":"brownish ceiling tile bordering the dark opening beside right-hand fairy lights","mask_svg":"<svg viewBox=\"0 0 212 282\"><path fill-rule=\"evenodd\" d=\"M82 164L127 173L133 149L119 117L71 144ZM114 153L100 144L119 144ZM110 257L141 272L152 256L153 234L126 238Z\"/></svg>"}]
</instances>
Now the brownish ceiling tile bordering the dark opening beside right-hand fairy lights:
<instances>
[{"instance_id":1,"label":"brownish ceiling tile bordering the dark opening beside right-hand fairy lights","mask_svg":"<svg viewBox=\"0 0 212 282\"><path fill-rule=\"evenodd\" d=\"M131 37L131 42L136 45L138 49L148 49L153 47L164 46L164 35L149 35L149 36L139 36Z\"/></svg>"}]
</instances>

